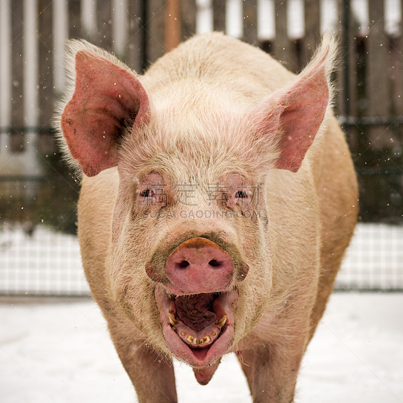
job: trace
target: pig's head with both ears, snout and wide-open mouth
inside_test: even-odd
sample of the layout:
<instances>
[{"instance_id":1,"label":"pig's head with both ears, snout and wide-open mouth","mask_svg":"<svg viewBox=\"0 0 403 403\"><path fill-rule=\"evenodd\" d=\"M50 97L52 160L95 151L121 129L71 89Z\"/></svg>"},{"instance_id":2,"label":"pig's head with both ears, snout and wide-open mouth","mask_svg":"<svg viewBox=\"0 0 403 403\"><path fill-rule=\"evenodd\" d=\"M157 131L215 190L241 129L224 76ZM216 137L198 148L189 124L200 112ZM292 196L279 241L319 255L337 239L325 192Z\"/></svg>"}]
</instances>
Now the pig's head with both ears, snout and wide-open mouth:
<instances>
[{"instance_id":1,"label":"pig's head with both ears, snout and wide-open mouth","mask_svg":"<svg viewBox=\"0 0 403 403\"><path fill-rule=\"evenodd\" d=\"M110 296L148 343L207 366L267 304L265 178L297 172L314 142L328 109L331 45L285 88L244 107L211 77L139 78L81 46L61 128L87 176L117 167Z\"/></svg>"}]
</instances>

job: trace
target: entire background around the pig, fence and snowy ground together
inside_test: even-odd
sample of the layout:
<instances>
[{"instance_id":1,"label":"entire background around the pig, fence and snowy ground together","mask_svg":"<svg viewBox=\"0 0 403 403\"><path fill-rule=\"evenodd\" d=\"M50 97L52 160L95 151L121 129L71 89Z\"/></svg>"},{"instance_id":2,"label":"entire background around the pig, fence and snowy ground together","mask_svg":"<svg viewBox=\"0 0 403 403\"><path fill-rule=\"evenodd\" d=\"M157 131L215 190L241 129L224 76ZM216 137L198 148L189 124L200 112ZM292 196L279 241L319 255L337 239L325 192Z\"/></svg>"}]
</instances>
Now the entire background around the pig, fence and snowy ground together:
<instances>
[{"instance_id":1,"label":"entire background around the pig, fence and snowy ground together","mask_svg":"<svg viewBox=\"0 0 403 403\"><path fill-rule=\"evenodd\" d=\"M0 0L0 402L136 401L88 298L80 188L49 124L65 40L85 38L142 73L194 33L219 30L295 73L324 31L339 37L334 112L356 167L360 218L296 401L401 403L402 9L402 0ZM207 387L175 362L180 401L250 401L235 361L226 356Z\"/></svg>"}]
</instances>

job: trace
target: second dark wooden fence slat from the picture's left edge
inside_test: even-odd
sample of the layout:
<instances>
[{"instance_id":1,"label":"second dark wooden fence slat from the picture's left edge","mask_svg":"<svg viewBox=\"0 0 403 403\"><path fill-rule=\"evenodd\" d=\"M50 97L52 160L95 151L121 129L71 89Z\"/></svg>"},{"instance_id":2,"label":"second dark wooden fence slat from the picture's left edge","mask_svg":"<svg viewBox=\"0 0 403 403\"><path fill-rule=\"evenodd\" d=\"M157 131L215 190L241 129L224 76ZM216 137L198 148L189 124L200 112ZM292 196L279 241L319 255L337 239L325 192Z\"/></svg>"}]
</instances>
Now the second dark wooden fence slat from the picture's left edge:
<instances>
[{"instance_id":1,"label":"second dark wooden fence slat from the picture's left edge","mask_svg":"<svg viewBox=\"0 0 403 403\"><path fill-rule=\"evenodd\" d=\"M38 74L39 74L39 125L49 127L53 113L53 36L52 7L49 0L38 1ZM39 135L41 153L52 151L52 140L47 133Z\"/></svg>"}]
</instances>

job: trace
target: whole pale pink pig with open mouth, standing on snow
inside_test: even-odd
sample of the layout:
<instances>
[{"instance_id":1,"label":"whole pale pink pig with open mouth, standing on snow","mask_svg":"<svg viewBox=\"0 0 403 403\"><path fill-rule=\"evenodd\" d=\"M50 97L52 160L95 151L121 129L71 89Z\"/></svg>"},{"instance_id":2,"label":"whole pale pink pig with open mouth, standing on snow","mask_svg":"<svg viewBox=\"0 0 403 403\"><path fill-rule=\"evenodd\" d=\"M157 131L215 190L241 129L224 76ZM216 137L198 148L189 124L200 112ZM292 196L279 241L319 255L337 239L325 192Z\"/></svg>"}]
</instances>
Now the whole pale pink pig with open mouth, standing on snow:
<instances>
[{"instance_id":1,"label":"whole pale pink pig with open mouth, standing on snow","mask_svg":"<svg viewBox=\"0 0 403 403\"><path fill-rule=\"evenodd\" d=\"M221 33L139 76L70 41L59 140L78 170L91 293L140 402L177 401L236 353L254 402L291 402L353 234L357 181L332 115L337 43L297 76Z\"/></svg>"}]
</instances>

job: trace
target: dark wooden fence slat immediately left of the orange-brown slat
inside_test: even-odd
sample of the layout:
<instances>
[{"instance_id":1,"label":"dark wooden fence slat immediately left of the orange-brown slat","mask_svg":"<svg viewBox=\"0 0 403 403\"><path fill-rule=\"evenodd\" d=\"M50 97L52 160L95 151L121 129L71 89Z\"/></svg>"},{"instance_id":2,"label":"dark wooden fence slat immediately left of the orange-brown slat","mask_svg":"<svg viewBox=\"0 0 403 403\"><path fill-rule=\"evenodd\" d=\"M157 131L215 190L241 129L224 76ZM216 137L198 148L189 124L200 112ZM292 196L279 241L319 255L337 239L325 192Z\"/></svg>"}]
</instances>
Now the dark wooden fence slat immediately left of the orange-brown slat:
<instances>
[{"instance_id":1,"label":"dark wooden fence slat immediately left of the orange-brown slat","mask_svg":"<svg viewBox=\"0 0 403 403\"><path fill-rule=\"evenodd\" d=\"M153 63L165 52L164 0L147 3L146 10L146 56L147 63Z\"/></svg>"}]
</instances>

